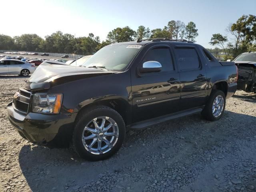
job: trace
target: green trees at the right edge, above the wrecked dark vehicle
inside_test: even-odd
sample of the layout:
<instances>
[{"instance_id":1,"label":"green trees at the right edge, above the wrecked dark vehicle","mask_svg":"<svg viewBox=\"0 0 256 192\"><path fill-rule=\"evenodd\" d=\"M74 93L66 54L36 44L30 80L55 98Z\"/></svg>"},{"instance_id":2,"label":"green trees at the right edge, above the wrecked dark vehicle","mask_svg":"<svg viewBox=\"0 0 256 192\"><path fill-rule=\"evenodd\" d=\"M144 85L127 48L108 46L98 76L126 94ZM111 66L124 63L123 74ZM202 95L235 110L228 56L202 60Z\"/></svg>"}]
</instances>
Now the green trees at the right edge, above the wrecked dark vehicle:
<instances>
[{"instance_id":1,"label":"green trees at the right edge, above the wrecked dark vehicle","mask_svg":"<svg viewBox=\"0 0 256 192\"><path fill-rule=\"evenodd\" d=\"M226 32L231 39L220 33L212 34L210 44L218 46L225 53L225 59L234 59L243 52L256 51L256 16L242 15L235 23L229 24ZM218 56L218 49L212 50Z\"/></svg>"}]
</instances>

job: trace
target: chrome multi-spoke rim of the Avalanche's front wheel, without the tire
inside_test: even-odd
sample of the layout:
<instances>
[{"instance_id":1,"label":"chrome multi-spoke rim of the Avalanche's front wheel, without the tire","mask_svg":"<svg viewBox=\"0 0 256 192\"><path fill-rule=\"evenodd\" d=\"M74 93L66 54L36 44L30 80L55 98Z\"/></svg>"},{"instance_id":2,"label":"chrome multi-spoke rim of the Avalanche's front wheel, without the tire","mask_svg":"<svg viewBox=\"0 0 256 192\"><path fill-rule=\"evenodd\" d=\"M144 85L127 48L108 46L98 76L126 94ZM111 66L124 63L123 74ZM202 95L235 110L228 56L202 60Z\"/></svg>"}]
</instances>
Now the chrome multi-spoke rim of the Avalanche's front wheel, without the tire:
<instances>
[{"instance_id":1,"label":"chrome multi-spoke rim of the Avalanche's front wheel, without the tire","mask_svg":"<svg viewBox=\"0 0 256 192\"><path fill-rule=\"evenodd\" d=\"M82 133L84 148L92 154L110 151L118 140L117 123L110 117L101 116L91 120Z\"/></svg>"}]
</instances>

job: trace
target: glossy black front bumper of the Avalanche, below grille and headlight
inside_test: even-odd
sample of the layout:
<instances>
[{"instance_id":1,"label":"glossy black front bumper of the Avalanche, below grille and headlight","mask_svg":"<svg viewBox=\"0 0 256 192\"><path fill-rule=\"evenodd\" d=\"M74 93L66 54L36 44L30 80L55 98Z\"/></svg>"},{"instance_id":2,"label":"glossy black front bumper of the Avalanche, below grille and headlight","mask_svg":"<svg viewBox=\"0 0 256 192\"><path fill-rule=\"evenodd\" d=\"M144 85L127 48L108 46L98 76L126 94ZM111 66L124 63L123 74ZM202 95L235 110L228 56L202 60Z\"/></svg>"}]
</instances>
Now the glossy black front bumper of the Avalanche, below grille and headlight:
<instances>
[{"instance_id":1,"label":"glossy black front bumper of the Avalanche, below grille and headlight","mask_svg":"<svg viewBox=\"0 0 256 192\"><path fill-rule=\"evenodd\" d=\"M18 133L30 142L49 146L68 146L72 136L72 114L20 114L12 103L7 107L8 118Z\"/></svg>"}]
</instances>

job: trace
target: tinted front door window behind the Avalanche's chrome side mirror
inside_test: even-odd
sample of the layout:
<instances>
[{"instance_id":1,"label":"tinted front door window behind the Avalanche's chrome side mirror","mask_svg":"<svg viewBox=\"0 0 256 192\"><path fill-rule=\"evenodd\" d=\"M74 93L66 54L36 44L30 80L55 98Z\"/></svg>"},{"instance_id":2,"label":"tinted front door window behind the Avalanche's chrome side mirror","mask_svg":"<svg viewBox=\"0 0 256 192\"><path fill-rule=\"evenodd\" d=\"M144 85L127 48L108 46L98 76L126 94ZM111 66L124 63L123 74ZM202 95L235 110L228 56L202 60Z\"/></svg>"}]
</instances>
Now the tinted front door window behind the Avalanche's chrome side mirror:
<instances>
[{"instance_id":1,"label":"tinted front door window behind the Avalanche's chrome side mirror","mask_svg":"<svg viewBox=\"0 0 256 192\"><path fill-rule=\"evenodd\" d=\"M148 51L142 63L147 61L160 62L160 64L162 65L161 72L174 70L170 50L167 47L155 48Z\"/></svg>"}]
</instances>

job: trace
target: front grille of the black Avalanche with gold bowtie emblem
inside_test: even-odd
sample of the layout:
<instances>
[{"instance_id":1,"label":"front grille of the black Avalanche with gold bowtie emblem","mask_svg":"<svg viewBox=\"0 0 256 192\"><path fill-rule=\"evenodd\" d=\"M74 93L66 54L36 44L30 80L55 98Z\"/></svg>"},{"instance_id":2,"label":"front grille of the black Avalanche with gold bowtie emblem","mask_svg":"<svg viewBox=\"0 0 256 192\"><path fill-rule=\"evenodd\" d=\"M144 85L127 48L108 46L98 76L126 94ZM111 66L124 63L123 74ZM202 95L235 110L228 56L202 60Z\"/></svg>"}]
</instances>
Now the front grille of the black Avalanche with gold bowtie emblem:
<instances>
[{"instance_id":1,"label":"front grille of the black Avalanche with gold bowtie emblem","mask_svg":"<svg viewBox=\"0 0 256 192\"><path fill-rule=\"evenodd\" d=\"M31 93L20 89L14 94L13 106L17 112L27 114L30 105Z\"/></svg>"}]
</instances>

